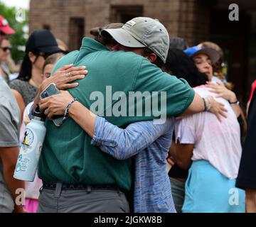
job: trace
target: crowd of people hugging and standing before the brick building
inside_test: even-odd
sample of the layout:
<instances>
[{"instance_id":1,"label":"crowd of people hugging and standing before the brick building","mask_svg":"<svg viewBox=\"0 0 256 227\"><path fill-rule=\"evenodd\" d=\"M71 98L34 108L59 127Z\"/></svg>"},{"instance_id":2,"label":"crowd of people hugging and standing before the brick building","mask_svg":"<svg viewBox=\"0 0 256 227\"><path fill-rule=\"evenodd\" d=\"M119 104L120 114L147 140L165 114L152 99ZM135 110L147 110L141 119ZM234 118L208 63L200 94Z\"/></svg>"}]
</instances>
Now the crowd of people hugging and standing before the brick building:
<instances>
[{"instance_id":1,"label":"crowd of people hugging and standing before the brick building","mask_svg":"<svg viewBox=\"0 0 256 227\"><path fill-rule=\"evenodd\" d=\"M246 119L217 44L188 47L146 17L92 28L73 52L38 30L13 77L15 31L2 16L0 32L0 212L256 212L255 92ZM41 99L51 83L60 93ZM110 87L115 98L92 109L92 94ZM127 103L131 92L164 102ZM34 181L23 182L13 175L35 109L47 117L46 138Z\"/></svg>"}]
</instances>

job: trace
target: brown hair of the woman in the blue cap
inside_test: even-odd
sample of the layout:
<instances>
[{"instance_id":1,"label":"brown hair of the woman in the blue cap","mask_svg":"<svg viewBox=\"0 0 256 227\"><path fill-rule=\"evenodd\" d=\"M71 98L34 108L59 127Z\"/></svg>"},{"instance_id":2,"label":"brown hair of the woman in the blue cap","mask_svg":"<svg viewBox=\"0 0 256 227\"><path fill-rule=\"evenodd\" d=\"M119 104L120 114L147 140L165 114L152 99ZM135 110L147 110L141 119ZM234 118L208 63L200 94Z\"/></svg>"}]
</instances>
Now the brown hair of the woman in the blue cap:
<instances>
[{"instance_id":1,"label":"brown hair of the woman in the blue cap","mask_svg":"<svg viewBox=\"0 0 256 227\"><path fill-rule=\"evenodd\" d=\"M223 57L224 57L223 50L216 43L212 43L212 42L209 42L209 41L200 43L200 45L203 48L213 48L214 50L217 50L219 52L220 59L218 60L218 62L215 62L215 64L213 65L213 74L216 77L218 77L220 80L224 81L224 84L225 84L226 88L232 90L234 85L230 82L225 82L226 78L225 78L225 74L223 74L223 66L222 66Z\"/></svg>"}]
</instances>

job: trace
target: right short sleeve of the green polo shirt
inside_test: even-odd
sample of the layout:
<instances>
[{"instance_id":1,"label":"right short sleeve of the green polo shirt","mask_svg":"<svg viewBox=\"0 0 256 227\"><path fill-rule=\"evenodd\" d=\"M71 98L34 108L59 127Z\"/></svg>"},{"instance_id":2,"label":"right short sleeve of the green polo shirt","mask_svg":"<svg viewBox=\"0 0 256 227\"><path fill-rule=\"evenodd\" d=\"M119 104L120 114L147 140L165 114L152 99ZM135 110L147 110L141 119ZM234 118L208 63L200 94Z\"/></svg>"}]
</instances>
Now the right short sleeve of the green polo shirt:
<instances>
[{"instance_id":1,"label":"right short sleeve of the green polo shirt","mask_svg":"<svg viewBox=\"0 0 256 227\"><path fill-rule=\"evenodd\" d=\"M185 79L177 79L159 67L151 64L149 60L142 60L142 65L137 74L134 90L139 92L166 92L166 115L181 116L193 101L194 90ZM159 106L161 100L159 99Z\"/></svg>"}]
</instances>

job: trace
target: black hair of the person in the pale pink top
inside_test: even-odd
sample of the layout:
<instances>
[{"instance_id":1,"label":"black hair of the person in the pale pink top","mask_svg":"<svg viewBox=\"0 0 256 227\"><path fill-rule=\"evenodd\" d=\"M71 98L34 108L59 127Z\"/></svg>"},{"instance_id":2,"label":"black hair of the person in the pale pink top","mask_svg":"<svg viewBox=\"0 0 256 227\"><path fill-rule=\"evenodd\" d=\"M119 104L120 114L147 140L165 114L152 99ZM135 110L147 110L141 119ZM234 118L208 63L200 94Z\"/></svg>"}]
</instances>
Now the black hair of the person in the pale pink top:
<instances>
[{"instance_id":1,"label":"black hair of the person in the pale pink top","mask_svg":"<svg viewBox=\"0 0 256 227\"><path fill-rule=\"evenodd\" d=\"M178 78L186 79L191 87L206 84L208 81L207 75L198 71L191 57L175 48L169 48L163 70L170 72Z\"/></svg>"}]
</instances>

